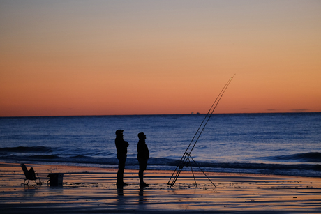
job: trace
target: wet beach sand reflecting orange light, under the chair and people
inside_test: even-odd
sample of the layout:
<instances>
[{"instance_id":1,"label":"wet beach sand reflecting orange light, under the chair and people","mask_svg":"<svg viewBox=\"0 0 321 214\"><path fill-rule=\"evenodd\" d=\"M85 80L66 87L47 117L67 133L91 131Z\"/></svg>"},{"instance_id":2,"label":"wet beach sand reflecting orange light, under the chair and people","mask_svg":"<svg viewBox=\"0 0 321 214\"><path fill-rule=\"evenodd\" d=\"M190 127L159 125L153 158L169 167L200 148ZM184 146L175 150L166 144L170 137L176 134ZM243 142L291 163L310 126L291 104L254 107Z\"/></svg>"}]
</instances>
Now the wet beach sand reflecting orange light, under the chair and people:
<instances>
[{"instance_id":1,"label":"wet beach sand reflecting orange light, under the chair and people","mask_svg":"<svg viewBox=\"0 0 321 214\"><path fill-rule=\"evenodd\" d=\"M23 185L19 164L0 163L0 213L321 213L321 178L182 171L167 185L172 171L125 169L117 188L117 169L29 165L43 185ZM50 187L49 173L63 173L63 185Z\"/></svg>"}]
</instances>

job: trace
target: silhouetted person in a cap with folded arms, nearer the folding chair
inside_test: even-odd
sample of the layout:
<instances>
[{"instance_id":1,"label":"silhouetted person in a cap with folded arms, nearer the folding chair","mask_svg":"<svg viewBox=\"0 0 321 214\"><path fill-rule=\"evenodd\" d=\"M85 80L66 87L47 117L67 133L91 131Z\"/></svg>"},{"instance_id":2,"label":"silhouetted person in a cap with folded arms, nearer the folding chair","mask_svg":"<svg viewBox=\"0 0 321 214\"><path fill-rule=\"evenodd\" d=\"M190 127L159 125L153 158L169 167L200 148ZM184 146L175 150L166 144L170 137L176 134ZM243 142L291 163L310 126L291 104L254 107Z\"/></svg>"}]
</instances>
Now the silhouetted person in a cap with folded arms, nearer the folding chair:
<instances>
[{"instance_id":1,"label":"silhouetted person in a cap with folded arms, nearer the folding chair","mask_svg":"<svg viewBox=\"0 0 321 214\"><path fill-rule=\"evenodd\" d=\"M118 172L117 172L117 183L116 185L121 187L124 185L128 185L124 183L124 169L125 169L125 162L127 158L127 147L128 142L124 141L123 139L123 132L124 130L117 130L115 145L117 149L117 159L118 159Z\"/></svg>"}]
</instances>

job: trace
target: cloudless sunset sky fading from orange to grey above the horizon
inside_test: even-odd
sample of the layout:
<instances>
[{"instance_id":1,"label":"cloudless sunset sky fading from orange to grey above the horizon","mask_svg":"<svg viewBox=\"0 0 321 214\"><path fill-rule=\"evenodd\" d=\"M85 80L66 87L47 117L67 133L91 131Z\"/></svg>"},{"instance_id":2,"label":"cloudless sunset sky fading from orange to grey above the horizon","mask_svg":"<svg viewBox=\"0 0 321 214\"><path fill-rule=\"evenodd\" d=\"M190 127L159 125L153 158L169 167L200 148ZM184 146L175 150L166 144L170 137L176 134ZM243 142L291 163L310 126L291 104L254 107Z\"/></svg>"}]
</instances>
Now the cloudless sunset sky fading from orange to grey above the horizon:
<instances>
[{"instance_id":1,"label":"cloudless sunset sky fading from orange to grey above the horizon","mask_svg":"<svg viewBox=\"0 0 321 214\"><path fill-rule=\"evenodd\" d=\"M0 116L321 112L321 1L0 0Z\"/></svg>"}]
</instances>

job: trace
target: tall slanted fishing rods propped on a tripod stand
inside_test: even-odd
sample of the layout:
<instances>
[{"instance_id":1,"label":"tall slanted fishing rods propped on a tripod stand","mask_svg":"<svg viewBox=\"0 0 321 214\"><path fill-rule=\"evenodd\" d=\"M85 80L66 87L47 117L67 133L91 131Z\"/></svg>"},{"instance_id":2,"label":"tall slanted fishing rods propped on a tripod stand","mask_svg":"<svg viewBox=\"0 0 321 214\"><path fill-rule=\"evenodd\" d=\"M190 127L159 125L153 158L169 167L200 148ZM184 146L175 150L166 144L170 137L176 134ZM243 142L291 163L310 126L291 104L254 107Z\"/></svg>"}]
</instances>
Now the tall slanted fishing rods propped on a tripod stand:
<instances>
[{"instance_id":1,"label":"tall slanted fishing rods propped on a tripod stand","mask_svg":"<svg viewBox=\"0 0 321 214\"><path fill-rule=\"evenodd\" d=\"M205 126L207 125L207 123L209 122L209 119L211 118L211 115L213 114L214 110L216 109L216 107L217 107L217 105L218 105L218 102L220 102L221 98L223 97L223 94L225 93L227 87L230 85L230 82L232 81L232 79L234 78L234 76L235 76L235 75L233 75L233 76L227 81L227 83L225 84L225 86L223 87L223 89L222 89L221 92L218 94L217 98L215 99L213 105L211 105L211 107L209 108L209 112L207 112L207 114L206 114L206 116L204 117L204 119L203 119L200 127L199 127L199 128L197 129L197 131L195 132L195 135L194 135L193 139L191 140L190 144L188 144L188 147L186 148L186 151L185 151L184 155L181 157L181 160L179 161L179 164L177 165L177 167L176 167L176 169L174 170L172 176L170 177L170 181L168 181L167 184L169 184L169 185L174 185L174 183L177 181L177 178L179 177L179 174L181 174L181 170L183 169L183 167L184 167L184 166L185 166L185 167L188 167L188 164L186 164L186 162L187 162L187 161L188 161L188 162L191 162L190 158L193 160L193 162L195 162L195 160L191 157L191 152L192 152L193 149L195 148L195 145L196 145L198 139L200 138L200 135L202 135L202 132L203 132ZM207 119L207 121L206 121L206 123L204 123L204 121L205 121L206 119ZM204 126L203 126L203 128L202 128L203 123L204 123ZM201 128L202 128L202 130L200 131ZM197 135L197 132L199 132L199 131L200 131L200 134L198 135L197 139L195 140L195 143L193 144L191 150L188 152L188 149L190 148L191 144L193 143L193 140L195 139L195 137L196 137L196 135ZM195 162L195 164L196 164L196 162ZM196 164L196 165L197 165L197 164ZM198 167L198 165L197 165L197 167ZM199 167L199 168L200 168L200 167ZM192 169L192 167L191 167L191 169ZM202 171L202 169L200 169L200 170ZM203 174L204 174L205 176L207 176L207 175L204 173L204 171L202 171L202 172L203 172ZM193 169L192 169L192 173L193 173ZM194 176L194 174L193 174L193 176ZM173 178L173 180L172 180L172 178ZM207 178L209 179L209 177L207 177ZM172 180L172 183L171 183L171 180ZM194 180L195 180L195 177L194 177ZM211 181L211 180L209 179L209 181ZM195 181L195 183L196 183L196 181ZM211 182L211 183L214 185L214 187L216 187L213 182Z\"/></svg>"}]
</instances>

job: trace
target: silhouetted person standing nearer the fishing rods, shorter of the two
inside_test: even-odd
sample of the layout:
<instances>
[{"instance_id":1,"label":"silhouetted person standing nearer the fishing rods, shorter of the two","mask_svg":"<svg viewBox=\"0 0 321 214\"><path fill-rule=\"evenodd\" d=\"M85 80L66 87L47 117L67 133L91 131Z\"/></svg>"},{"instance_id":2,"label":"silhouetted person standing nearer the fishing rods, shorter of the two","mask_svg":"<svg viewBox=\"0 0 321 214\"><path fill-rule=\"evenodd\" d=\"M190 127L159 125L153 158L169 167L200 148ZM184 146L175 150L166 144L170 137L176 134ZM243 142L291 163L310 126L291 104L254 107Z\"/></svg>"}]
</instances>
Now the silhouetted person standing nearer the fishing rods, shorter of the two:
<instances>
[{"instance_id":1,"label":"silhouetted person standing nearer the fishing rods, shorter of the two","mask_svg":"<svg viewBox=\"0 0 321 214\"><path fill-rule=\"evenodd\" d=\"M146 135L143 132L140 132L138 134L138 138L140 139L137 144L137 160L140 162L140 171L138 172L138 176L140 177L140 187L147 187L148 184L144 183L144 170L147 167L149 150L145 142Z\"/></svg>"}]
</instances>

